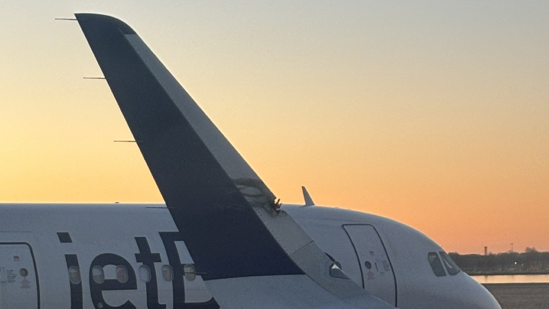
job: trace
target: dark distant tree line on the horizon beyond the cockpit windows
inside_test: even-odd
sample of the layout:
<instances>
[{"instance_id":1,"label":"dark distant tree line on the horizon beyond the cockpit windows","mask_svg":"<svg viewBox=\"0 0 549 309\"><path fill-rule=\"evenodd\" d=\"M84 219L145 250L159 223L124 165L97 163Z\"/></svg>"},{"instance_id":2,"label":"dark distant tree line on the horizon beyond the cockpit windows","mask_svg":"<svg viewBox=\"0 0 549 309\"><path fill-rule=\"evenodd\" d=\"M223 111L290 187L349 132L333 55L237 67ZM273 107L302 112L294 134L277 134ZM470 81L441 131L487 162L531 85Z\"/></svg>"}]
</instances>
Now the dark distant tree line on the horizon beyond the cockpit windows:
<instances>
[{"instance_id":1,"label":"dark distant tree line on the horizon beyond the cockpit windows","mask_svg":"<svg viewBox=\"0 0 549 309\"><path fill-rule=\"evenodd\" d=\"M522 253L449 255L469 275L549 274L549 252L540 252L534 247L526 247Z\"/></svg>"}]
</instances>

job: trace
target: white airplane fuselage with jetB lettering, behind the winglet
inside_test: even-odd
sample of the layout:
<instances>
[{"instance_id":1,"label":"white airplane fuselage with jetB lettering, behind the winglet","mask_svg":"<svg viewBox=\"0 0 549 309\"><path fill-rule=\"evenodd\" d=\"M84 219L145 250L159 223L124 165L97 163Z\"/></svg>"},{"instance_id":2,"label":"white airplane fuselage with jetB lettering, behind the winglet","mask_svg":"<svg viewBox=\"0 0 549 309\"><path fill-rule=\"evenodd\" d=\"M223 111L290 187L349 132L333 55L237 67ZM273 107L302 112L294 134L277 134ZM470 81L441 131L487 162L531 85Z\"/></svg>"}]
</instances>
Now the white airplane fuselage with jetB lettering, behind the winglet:
<instances>
[{"instance_id":1,"label":"white airplane fuselage with jetB lettering, behind the winglet","mask_svg":"<svg viewBox=\"0 0 549 309\"><path fill-rule=\"evenodd\" d=\"M443 249L415 229L347 209L283 209L388 304L498 308L465 273L434 275L428 254ZM165 205L0 204L0 309L216 308L200 273L178 271L192 264Z\"/></svg>"}]
</instances>

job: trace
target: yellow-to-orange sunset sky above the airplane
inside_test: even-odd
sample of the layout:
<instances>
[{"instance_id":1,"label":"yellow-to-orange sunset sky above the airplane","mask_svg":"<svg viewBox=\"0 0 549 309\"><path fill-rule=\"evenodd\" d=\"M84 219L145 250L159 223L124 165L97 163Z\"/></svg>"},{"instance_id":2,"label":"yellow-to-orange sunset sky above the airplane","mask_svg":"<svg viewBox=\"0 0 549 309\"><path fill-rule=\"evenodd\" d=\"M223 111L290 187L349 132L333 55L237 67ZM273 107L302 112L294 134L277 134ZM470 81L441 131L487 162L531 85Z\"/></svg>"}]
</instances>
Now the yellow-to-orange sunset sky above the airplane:
<instances>
[{"instance_id":1,"label":"yellow-to-orange sunset sky above the airplane","mask_svg":"<svg viewBox=\"0 0 549 309\"><path fill-rule=\"evenodd\" d=\"M283 203L549 250L549 2L1 1L0 201L162 202L76 22L148 43Z\"/></svg>"}]
</instances>

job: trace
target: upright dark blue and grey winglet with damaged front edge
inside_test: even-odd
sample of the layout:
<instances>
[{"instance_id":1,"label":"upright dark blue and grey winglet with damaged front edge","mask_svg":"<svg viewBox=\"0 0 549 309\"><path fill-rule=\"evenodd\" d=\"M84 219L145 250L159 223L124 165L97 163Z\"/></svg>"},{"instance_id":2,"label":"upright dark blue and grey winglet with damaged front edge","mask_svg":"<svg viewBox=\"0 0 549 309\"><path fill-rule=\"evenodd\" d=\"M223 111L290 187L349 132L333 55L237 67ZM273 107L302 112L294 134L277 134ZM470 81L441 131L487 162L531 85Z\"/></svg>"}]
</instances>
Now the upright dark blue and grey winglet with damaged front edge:
<instances>
[{"instance_id":1,"label":"upright dark blue and grey winglet with damaged front edge","mask_svg":"<svg viewBox=\"0 0 549 309\"><path fill-rule=\"evenodd\" d=\"M340 299L346 308L393 308L330 277L333 262L132 28L110 16L75 16L196 271L223 308L244 308L254 289L271 308L284 306L281 290L301 291L309 308Z\"/></svg>"}]
</instances>

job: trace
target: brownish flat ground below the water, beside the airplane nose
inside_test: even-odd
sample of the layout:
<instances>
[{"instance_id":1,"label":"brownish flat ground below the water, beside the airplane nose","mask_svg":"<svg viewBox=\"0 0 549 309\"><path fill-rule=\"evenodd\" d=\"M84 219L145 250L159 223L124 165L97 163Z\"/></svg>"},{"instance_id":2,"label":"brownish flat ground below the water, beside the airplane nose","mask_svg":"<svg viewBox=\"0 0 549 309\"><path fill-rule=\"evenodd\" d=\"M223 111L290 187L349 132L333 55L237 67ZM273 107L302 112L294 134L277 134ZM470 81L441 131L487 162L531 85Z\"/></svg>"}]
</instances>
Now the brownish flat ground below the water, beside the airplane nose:
<instances>
[{"instance_id":1,"label":"brownish flat ground below the water, beside the airplane nose","mask_svg":"<svg viewBox=\"0 0 549 309\"><path fill-rule=\"evenodd\" d=\"M484 284L502 309L549 308L549 284Z\"/></svg>"}]
</instances>

